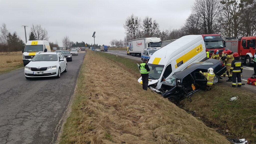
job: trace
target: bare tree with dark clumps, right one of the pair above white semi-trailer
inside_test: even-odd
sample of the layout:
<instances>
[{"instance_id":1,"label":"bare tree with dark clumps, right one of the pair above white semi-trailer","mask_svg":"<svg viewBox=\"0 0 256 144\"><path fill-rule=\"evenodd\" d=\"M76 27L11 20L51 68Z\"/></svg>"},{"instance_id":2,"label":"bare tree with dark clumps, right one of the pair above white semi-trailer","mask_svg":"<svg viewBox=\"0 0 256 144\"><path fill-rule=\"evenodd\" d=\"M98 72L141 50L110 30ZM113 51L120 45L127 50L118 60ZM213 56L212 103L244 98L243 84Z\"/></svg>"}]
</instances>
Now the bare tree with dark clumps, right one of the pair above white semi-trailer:
<instances>
[{"instance_id":1,"label":"bare tree with dark clumps, right one of the pair above white semi-trailer","mask_svg":"<svg viewBox=\"0 0 256 144\"><path fill-rule=\"evenodd\" d=\"M143 19L143 34L144 37L152 37L153 35L157 35L159 32L159 24L156 20L152 20L151 17L146 16Z\"/></svg>"}]
</instances>

